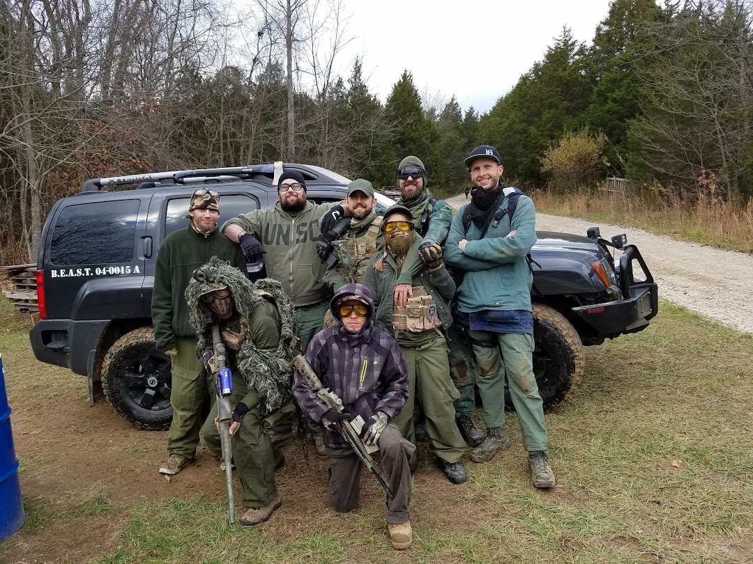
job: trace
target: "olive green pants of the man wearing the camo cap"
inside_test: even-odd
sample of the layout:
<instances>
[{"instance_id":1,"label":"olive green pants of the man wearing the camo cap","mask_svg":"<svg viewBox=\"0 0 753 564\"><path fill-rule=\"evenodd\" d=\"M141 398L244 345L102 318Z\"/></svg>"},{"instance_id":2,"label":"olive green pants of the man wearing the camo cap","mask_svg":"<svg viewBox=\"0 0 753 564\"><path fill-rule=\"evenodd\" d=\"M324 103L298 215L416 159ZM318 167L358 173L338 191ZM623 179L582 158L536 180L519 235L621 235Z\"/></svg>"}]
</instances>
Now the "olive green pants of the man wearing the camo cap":
<instances>
[{"instance_id":1,"label":"olive green pants of the man wearing the camo cap","mask_svg":"<svg viewBox=\"0 0 753 564\"><path fill-rule=\"evenodd\" d=\"M196 338L175 340L178 354L172 356L172 423L167 433L167 452L192 460L199 445L201 408L207 398L214 402L214 381L196 357Z\"/></svg>"}]
</instances>

